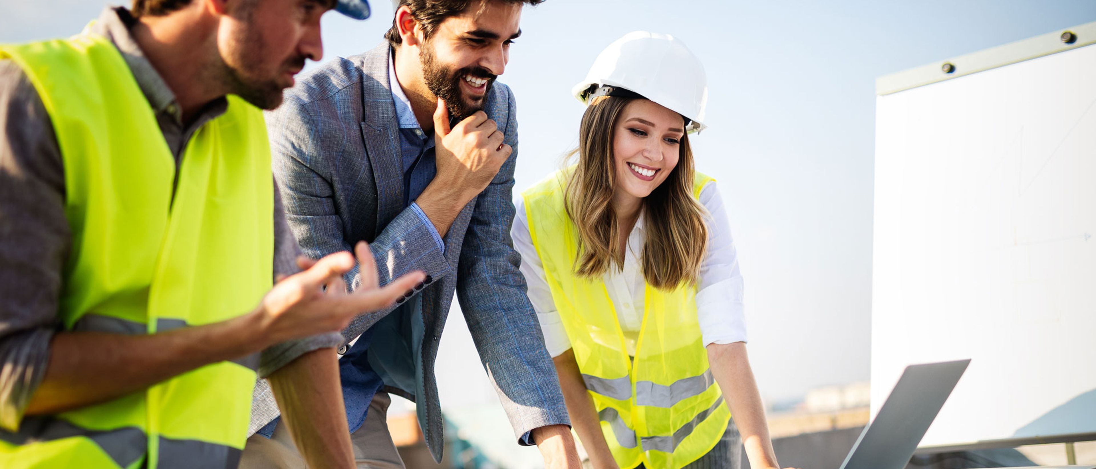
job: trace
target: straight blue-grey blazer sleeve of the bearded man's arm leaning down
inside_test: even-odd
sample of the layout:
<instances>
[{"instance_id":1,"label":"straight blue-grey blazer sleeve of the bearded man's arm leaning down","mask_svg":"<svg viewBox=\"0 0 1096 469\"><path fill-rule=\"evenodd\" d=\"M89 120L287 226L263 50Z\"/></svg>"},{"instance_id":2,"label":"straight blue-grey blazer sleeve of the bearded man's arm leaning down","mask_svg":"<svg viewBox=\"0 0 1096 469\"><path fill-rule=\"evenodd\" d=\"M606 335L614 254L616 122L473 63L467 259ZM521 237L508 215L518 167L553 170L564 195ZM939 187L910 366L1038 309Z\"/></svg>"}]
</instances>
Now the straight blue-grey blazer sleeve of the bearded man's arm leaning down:
<instances>
[{"instance_id":1,"label":"straight blue-grey blazer sleeve of the bearded man's arm leaning down","mask_svg":"<svg viewBox=\"0 0 1096 469\"><path fill-rule=\"evenodd\" d=\"M501 85L501 84L496 84ZM522 259L510 237L514 220L514 167L517 160L516 105L505 89L505 142L510 159L477 197L460 251L457 299L483 367L502 401L514 435L546 425L569 425L556 367L545 350L536 312L526 297Z\"/></svg>"}]
</instances>

